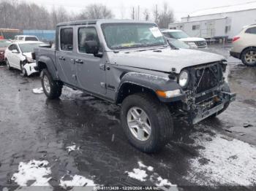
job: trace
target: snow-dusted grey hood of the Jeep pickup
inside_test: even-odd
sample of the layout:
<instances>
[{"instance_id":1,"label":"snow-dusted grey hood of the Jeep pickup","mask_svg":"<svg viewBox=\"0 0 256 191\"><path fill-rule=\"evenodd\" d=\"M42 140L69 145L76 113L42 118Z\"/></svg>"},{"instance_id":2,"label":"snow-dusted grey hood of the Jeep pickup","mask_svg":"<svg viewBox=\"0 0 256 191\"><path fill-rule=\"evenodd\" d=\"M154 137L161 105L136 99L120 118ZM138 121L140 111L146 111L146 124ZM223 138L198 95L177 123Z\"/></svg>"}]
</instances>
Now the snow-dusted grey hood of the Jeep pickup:
<instances>
[{"instance_id":1,"label":"snow-dusted grey hood of the Jeep pickup","mask_svg":"<svg viewBox=\"0 0 256 191\"><path fill-rule=\"evenodd\" d=\"M217 55L200 50L170 48L159 50L121 51L118 53L109 52L110 63L119 66L130 66L154 71L170 72L173 68L179 74L182 69L189 66L196 66L204 63L211 63L225 60L222 55Z\"/></svg>"}]
</instances>

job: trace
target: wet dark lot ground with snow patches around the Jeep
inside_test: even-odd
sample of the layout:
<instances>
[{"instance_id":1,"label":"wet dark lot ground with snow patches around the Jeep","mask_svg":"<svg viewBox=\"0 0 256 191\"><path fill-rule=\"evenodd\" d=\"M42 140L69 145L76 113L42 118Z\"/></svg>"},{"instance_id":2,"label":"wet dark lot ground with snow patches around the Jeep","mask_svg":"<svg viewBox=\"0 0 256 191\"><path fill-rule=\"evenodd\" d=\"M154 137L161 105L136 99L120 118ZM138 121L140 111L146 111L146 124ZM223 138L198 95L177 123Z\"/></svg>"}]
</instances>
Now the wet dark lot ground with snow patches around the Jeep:
<instances>
[{"instance_id":1,"label":"wet dark lot ground with snow patches around the Jeep","mask_svg":"<svg viewBox=\"0 0 256 191\"><path fill-rule=\"evenodd\" d=\"M38 75L24 78L0 66L0 190L85 184L256 190L256 68L230 58L229 50L207 51L227 57L237 100L195 127L176 120L172 141L154 155L129 145L118 106L67 87L60 100L47 100L32 93L41 87Z\"/></svg>"}]
</instances>

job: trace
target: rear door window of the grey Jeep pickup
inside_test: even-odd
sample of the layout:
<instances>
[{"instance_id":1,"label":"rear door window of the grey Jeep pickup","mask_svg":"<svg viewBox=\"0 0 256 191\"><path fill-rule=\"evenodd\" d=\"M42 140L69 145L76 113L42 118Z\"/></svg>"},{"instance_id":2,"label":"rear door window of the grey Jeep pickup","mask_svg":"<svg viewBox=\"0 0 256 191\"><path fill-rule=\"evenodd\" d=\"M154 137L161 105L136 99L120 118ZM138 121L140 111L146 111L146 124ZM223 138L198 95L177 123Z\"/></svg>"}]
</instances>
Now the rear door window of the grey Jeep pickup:
<instances>
[{"instance_id":1,"label":"rear door window of the grey Jeep pickup","mask_svg":"<svg viewBox=\"0 0 256 191\"><path fill-rule=\"evenodd\" d=\"M73 28L61 29L61 50L72 51L73 50Z\"/></svg>"}]
</instances>

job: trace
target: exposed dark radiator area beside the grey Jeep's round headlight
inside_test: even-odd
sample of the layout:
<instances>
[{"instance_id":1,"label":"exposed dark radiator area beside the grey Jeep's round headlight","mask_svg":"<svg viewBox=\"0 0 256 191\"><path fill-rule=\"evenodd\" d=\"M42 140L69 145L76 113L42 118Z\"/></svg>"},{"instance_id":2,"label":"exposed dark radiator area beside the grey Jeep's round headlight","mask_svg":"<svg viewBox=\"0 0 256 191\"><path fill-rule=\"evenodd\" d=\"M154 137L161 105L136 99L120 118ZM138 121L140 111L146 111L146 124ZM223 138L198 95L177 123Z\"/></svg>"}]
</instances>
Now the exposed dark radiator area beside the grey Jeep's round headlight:
<instances>
[{"instance_id":1,"label":"exposed dark radiator area beside the grey Jeep's round headlight","mask_svg":"<svg viewBox=\"0 0 256 191\"><path fill-rule=\"evenodd\" d=\"M219 67L214 64L202 69L195 69L195 93L202 93L218 85Z\"/></svg>"}]
</instances>

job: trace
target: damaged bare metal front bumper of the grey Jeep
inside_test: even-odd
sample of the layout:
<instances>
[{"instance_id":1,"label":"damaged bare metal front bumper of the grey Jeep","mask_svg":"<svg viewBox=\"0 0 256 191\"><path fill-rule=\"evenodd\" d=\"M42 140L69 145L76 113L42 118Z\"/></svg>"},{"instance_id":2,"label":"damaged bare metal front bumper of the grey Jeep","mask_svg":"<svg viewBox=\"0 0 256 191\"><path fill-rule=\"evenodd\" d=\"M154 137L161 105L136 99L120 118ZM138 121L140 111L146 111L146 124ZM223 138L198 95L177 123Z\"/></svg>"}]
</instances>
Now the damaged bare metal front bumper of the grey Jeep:
<instances>
[{"instance_id":1,"label":"damaged bare metal front bumper of the grey Jeep","mask_svg":"<svg viewBox=\"0 0 256 191\"><path fill-rule=\"evenodd\" d=\"M219 96L222 98L222 101L211 109L208 109L207 106L203 104L195 105L194 110L197 112L196 115L191 119L192 124L195 125L197 122L205 120L207 117L210 117L213 114L217 114L218 112L222 111L222 109L224 109L227 104L230 104L236 100L236 93L227 93L222 91L219 94Z\"/></svg>"}]
</instances>

